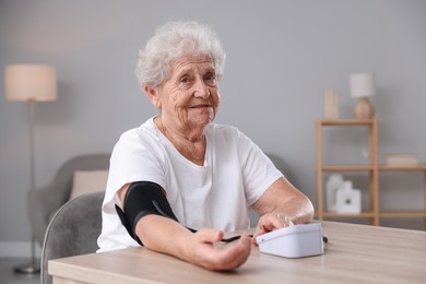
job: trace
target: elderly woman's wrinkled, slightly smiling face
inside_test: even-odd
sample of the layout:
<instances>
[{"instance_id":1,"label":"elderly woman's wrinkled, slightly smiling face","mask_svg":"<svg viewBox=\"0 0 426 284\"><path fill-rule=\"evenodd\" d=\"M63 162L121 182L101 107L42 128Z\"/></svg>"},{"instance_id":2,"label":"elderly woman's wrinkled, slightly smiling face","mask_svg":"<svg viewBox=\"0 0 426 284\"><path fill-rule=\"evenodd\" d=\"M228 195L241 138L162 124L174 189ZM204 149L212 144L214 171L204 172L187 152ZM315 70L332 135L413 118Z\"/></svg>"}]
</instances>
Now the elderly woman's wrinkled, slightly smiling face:
<instances>
[{"instance_id":1,"label":"elderly woman's wrinkled, slightly smiling face","mask_svg":"<svg viewBox=\"0 0 426 284\"><path fill-rule=\"evenodd\" d=\"M162 117L186 127L211 122L221 98L216 72L208 56L184 56L174 60L170 75L157 92Z\"/></svg>"}]
</instances>

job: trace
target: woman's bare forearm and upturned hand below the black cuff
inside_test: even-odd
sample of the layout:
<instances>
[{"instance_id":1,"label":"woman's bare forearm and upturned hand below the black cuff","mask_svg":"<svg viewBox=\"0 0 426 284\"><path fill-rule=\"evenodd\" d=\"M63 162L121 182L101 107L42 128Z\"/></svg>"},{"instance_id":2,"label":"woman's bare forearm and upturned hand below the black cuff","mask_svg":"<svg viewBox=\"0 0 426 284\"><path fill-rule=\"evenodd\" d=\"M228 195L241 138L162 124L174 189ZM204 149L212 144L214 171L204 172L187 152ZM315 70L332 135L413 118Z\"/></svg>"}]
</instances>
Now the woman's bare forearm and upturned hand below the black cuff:
<instances>
[{"instance_id":1,"label":"woman's bare forearm and upturned hand below the black cuff","mask_svg":"<svg viewBox=\"0 0 426 284\"><path fill-rule=\"evenodd\" d=\"M191 233L176 221L158 215L141 218L137 225L137 234L147 249L175 256L213 271L240 267L251 250L248 235L242 235L228 245L217 244L223 238L222 230L202 228Z\"/></svg>"}]
</instances>

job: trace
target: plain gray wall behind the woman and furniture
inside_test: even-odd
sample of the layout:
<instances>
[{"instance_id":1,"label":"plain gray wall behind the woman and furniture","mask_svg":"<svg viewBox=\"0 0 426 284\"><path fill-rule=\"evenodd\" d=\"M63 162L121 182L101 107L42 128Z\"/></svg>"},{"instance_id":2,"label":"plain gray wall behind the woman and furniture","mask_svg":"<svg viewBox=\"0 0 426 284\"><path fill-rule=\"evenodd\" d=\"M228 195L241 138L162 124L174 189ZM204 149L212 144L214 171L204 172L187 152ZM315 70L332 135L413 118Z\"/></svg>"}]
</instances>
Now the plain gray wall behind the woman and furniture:
<instances>
[{"instance_id":1,"label":"plain gray wall behind the woman and furniture","mask_svg":"<svg viewBox=\"0 0 426 284\"><path fill-rule=\"evenodd\" d=\"M217 122L239 127L283 157L292 180L315 201L322 92L336 88L340 117L351 118L351 73L377 74L381 161L406 152L426 161L425 15L423 0L5 0L0 66L57 67L58 100L36 105L36 185L43 186L68 158L110 152L121 132L155 114L133 68L156 26L169 19L209 23L227 51ZM0 244L29 240L26 111L23 103L0 99ZM348 133L328 144L348 143L335 156L350 159L362 157L359 141ZM422 180L413 187L414 203L423 205ZM383 198L384 205L411 206L409 198L394 200Z\"/></svg>"}]
</instances>

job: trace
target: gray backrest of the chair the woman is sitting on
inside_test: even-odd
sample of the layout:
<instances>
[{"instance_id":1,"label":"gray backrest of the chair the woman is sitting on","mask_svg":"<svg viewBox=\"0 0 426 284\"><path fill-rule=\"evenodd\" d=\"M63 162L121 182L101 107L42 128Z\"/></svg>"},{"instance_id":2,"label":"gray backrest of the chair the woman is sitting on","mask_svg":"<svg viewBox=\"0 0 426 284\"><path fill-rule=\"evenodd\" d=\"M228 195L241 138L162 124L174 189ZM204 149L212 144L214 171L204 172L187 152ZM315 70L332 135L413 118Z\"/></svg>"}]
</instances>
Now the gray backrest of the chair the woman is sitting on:
<instances>
[{"instance_id":1,"label":"gray backrest of the chair the woman is sitting on","mask_svg":"<svg viewBox=\"0 0 426 284\"><path fill-rule=\"evenodd\" d=\"M66 258L97 250L102 229L104 192L86 193L67 202L50 221L42 250L43 284L50 284L47 271L50 259Z\"/></svg>"}]
</instances>

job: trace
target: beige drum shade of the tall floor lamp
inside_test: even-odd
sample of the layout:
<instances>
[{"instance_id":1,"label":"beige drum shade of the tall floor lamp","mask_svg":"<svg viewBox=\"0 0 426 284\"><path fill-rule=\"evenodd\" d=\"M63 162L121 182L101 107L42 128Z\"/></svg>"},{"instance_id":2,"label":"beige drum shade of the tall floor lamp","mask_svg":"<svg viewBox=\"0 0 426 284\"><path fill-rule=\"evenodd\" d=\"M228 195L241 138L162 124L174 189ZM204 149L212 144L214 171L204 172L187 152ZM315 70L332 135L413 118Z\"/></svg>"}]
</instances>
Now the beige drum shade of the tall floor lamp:
<instances>
[{"instance_id":1,"label":"beige drum shade of the tall floor lamp","mask_svg":"<svg viewBox=\"0 0 426 284\"><path fill-rule=\"evenodd\" d=\"M11 64L4 69L5 98L48 102L57 98L56 70L44 64Z\"/></svg>"}]
</instances>

